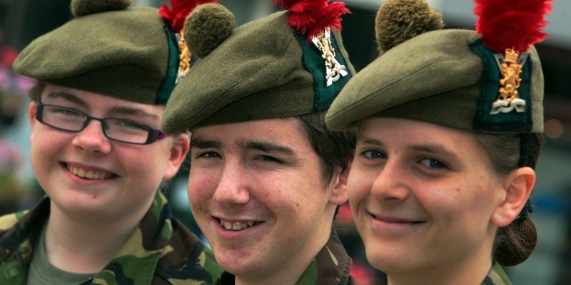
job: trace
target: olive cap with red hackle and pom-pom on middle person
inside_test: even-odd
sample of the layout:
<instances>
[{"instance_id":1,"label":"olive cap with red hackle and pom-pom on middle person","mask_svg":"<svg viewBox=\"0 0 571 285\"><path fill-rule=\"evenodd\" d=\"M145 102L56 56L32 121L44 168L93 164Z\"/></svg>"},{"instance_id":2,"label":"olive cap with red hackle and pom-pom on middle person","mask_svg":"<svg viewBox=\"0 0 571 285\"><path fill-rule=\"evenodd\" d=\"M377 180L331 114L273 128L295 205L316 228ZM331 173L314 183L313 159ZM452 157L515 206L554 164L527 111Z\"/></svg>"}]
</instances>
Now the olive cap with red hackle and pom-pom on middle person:
<instances>
[{"instance_id":1,"label":"olive cap with red hackle and pom-pom on middle person","mask_svg":"<svg viewBox=\"0 0 571 285\"><path fill-rule=\"evenodd\" d=\"M222 6L197 6L184 37L196 58L166 105L165 133L326 110L354 70L340 37L343 2L276 0L234 29Z\"/></svg>"}]
</instances>

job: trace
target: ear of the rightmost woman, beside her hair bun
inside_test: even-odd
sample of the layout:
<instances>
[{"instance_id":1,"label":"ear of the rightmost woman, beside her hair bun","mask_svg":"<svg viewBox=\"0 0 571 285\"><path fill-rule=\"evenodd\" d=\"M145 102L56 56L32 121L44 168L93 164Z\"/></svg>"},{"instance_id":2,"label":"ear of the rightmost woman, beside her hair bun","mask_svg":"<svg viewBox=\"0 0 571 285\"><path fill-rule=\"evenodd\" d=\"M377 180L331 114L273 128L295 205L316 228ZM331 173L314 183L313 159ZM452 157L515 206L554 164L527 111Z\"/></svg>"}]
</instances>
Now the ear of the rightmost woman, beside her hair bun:
<instances>
[{"instance_id":1,"label":"ear of the rightmost woman, beside her hair bun","mask_svg":"<svg viewBox=\"0 0 571 285\"><path fill-rule=\"evenodd\" d=\"M520 167L505 179L505 195L492 214L492 223L506 227L520 214L535 186L535 171Z\"/></svg>"}]
</instances>

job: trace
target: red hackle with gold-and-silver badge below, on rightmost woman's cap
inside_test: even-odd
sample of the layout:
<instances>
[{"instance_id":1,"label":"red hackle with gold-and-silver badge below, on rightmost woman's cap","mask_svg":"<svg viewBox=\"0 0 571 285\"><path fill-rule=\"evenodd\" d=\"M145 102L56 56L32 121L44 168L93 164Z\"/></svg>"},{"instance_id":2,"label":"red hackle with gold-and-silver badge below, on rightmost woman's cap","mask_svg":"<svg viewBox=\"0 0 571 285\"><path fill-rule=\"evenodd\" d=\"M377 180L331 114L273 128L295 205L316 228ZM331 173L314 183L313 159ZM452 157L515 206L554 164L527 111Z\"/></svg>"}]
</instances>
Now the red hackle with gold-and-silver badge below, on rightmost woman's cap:
<instances>
[{"instance_id":1,"label":"red hackle with gold-and-silver badge below, on rightmost woman's cap","mask_svg":"<svg viewBox=\"0 0 571 285\"><path fill-rule=\"evenodd\" d=\"M476 32L482 43L495 54L499 70L499 88L495 94L490 115L525 112L525 100L520 98L521 73L529 50L534 43L543 41L547 24L543 18L551 11L552 0L475 0L478 16Z\"/></svg>"}]
</instances>

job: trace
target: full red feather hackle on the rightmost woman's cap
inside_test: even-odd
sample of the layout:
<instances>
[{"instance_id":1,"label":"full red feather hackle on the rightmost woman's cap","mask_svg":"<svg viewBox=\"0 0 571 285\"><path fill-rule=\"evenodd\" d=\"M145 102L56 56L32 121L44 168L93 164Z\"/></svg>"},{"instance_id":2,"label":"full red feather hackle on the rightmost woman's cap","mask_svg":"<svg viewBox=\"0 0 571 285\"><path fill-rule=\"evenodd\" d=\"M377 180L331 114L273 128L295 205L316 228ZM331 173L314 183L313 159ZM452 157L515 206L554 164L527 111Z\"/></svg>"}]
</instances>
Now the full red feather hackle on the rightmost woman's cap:
<instances>
[{"instance_id":1,"label":"full red feather hackle on the rightmost woman's cap","mask_svg":"<svg viewBox=\"0 0 571 285\"><path fill-rule=\"evenodd\" d=\"M507 48L528 51L548 34L544 16L552 11L552 0L475 0L474 14L478 16L476 32L482 43L496 53Z\"/></svg>"}]
</instances>

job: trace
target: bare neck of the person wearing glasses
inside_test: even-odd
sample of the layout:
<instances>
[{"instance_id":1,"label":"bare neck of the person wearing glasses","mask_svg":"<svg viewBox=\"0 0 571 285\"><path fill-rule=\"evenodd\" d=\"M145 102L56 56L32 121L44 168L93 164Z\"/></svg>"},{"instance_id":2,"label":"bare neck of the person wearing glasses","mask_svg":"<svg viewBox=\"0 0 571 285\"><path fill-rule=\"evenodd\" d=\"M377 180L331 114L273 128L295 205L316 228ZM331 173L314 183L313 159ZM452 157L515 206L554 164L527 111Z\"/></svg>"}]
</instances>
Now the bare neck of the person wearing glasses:
<instances>
[{"instance_id":1,"label":"bare neck of the person wearing glasses","mask_svg":"<svg viewBox=\"0 0 571 285\"><path fill-rule=\"evenodd\" d=\"M115 257L145 212L113 221L71 217L51 202L44 246L50 263L73 273L101 271Z\"/></svg>"}]
</instances>

